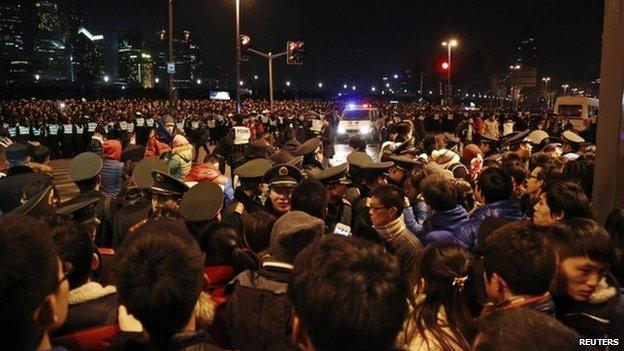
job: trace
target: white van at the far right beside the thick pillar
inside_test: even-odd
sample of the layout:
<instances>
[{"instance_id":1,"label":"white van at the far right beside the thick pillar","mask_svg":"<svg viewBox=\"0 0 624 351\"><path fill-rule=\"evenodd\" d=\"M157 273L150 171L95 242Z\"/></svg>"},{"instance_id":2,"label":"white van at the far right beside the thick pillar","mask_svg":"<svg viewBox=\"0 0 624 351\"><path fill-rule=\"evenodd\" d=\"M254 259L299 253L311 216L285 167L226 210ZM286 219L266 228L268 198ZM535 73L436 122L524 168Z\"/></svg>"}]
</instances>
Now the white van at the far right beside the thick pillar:
<instances>
[{"instance_id":1,"label":"white van at the far right beside the thick pillar","mask_svg":"<svg viewBox=\"0 0 624 351\"><path fill-rule=\"evenodd\" d=\"M585 96L560 96L555 102L555 114L566 116L579 132L598 120L598 99Z\"/></svg>"}]
</instances>

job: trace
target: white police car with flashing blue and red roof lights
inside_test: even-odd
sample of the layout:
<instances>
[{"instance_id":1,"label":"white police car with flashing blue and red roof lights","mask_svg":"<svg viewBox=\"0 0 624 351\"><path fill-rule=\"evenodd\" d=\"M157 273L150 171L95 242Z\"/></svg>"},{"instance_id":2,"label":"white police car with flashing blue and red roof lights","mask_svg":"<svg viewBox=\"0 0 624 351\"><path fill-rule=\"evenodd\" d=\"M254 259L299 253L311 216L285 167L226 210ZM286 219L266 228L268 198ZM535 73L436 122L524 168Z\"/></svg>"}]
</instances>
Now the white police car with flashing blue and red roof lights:
<instances>
[{"instance_id":1,"label":"white police car with flashing blue and red roof lights","mask_svg":"<svg viewBox=\"0 0 624 351\"><path fill-rule=\"evenodd\" d=\"M338 140L345 141L355 134L367 137L368 141L373 141L377 134L375 122L381 118L379 109L369 104L347 104L342 111L336 134Z\"/></svg>"}]
</instances>

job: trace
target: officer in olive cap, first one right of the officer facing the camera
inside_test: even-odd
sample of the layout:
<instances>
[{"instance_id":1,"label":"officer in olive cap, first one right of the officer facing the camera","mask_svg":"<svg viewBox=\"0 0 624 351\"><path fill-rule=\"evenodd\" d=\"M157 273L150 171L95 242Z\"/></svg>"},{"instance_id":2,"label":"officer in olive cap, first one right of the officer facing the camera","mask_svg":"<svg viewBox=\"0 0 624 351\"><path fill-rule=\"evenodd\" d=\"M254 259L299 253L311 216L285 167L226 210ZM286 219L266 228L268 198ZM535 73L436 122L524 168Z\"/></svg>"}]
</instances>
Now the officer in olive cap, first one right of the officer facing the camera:
<instances>
[{"instance_id":1,"label":"officer in olive cap, first one right of the officer facing the camera","mask_svg":"<svg viewBox=\"0 0 624 351\"><path fill-rule=\"evenodd\" d=\"M333 228L336 223L351 226L351 203L344 198L347 185L351 184L348 174L348 163L330 167L314 174L314 179L320 181L327 189L328 202L325 222L329 228Z\"/></svg>"}]
</instances>

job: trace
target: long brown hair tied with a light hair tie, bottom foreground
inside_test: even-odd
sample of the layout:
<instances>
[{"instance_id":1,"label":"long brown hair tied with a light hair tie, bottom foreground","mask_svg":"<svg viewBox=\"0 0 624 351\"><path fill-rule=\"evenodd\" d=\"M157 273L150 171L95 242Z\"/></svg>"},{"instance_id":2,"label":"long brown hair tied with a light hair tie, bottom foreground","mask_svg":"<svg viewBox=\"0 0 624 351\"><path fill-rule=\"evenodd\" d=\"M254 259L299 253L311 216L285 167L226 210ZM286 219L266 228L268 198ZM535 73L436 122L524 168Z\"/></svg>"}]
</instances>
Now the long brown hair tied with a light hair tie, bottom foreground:
<instances>
[{"instance_id":1,"label":"long brown hair tied with a light hair tie, bottom foreground","mask_svg":"<svg viewBox=\"0 0 624 351\"><path fill-rule=\"evenodd\" d=\"M406 344L416 337L424 339L429 348L439 345L443 351L470 349L474 323L468 306L473 289L472 258L459 245L429 245L420 263L416 302L407 320ZM444 311L446 323L439 323Z\"/></svg>"}]
</instances>

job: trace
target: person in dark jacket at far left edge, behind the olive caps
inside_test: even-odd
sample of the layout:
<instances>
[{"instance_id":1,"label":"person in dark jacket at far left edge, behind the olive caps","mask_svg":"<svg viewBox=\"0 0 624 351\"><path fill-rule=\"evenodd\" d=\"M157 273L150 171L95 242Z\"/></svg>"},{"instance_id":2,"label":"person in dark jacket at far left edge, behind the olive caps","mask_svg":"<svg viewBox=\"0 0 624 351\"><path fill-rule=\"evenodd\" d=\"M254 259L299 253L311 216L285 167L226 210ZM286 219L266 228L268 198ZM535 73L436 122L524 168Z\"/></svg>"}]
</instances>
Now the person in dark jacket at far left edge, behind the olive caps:
<instances>
[{"instance_id":1,"label":"person in dark jacket at far left edge, behind the olive caps","mask_svg":"<svg viewBox=\"0 0 624 351\"><path fill-rule=\"evenodd\" d=\"M0 211L8 213L18 207L24 198L24 191L35 183L42 183L43 188L53 185L53 179L44 174L36 173L28 166L30 156L28 148L23 144L11 144L5 151L9 165L7 176L0 179Z\"/></svg>"}]
</instances>

